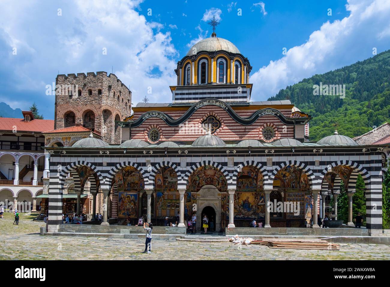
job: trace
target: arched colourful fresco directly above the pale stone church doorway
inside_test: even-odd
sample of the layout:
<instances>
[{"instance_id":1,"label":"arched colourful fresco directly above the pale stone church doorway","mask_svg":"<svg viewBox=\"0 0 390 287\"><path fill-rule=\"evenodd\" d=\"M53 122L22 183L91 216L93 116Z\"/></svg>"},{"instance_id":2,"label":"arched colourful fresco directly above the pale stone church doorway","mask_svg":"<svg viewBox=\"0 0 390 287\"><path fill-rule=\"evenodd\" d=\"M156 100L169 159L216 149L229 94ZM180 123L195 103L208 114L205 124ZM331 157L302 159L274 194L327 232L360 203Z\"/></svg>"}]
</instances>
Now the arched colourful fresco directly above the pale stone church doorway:
<instances>
[{"instance_id":1,"label":"arched colourful fresco directly above the pale stone church doorway","mask_svg":"<svg viewBox=\"0 0 390 287\"><path fill-rule=\"evenodd\" d=\"M198 192L207 184L214 185L221 192L227 191L225 176L214 166L202 166L198 168L191 174L189 182L191 183L190 190L192 192Z\"/></svg>"}]
</instances>

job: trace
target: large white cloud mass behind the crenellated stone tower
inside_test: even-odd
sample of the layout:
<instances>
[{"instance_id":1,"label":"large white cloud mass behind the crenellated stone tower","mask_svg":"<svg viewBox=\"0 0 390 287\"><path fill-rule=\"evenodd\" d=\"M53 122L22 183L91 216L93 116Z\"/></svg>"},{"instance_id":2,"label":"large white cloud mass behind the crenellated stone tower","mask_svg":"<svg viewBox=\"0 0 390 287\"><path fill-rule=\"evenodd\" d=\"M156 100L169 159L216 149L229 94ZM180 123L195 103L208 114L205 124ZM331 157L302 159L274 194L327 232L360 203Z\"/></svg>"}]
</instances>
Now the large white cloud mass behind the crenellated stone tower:
<instances>
[{"instance_id":1,"label":"large white cloud mass behind the crenellated stone tower","mask_svg":"<svg viewBox=\"0 0 390 287\"><path fill-rule=\"evenodd\" d=\"M45 86L55 81L58 70L60 74L110 73L113 66L115 75L130 86L134 104L148 87L152 87L152 94L147 94L150 102L169 102L168 86L176 84L178 52L170 32L160 32L163 25L148 22L134 10L140 2L96 0L92 5L72 0L45 2L43 7L38 0L25 0L18 9L12 3L2 5L0 51L10 52L0 52L0 77L8 77L9 90L23 91L21 101L36 100L38 106L39 102L48 106L46 118L53 118L54 97L45 95ZM58 7L62 16L57 16ZM13 46L18 54L12 56ZM152 70L159 71L153 78ZM0 91L0 98L7 97L9 93Z\"/></svg>"}]
</instances>

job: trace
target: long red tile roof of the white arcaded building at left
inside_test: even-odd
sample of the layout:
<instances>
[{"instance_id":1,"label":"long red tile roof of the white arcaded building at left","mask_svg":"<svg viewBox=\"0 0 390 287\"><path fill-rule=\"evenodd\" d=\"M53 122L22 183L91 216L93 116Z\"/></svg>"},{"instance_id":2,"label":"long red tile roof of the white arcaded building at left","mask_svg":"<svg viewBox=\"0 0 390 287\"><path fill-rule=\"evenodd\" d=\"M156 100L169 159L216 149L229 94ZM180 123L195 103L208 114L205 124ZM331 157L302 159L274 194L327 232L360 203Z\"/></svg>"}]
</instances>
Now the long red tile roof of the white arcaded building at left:
<instances>
[{"instance_id":1,"label":"long red tile roof of the white arcaded building at left","mask_svg":"<svg viewBox=\"0 0 390 287\"><path fill-rule=\"evenodd\" d=\"M14 130L16 132L45 132L54 128L54 120L52 119L34 119L25 121L24 119L15 118L0 118L0 130Z\"/></svg>"}]
</instances>

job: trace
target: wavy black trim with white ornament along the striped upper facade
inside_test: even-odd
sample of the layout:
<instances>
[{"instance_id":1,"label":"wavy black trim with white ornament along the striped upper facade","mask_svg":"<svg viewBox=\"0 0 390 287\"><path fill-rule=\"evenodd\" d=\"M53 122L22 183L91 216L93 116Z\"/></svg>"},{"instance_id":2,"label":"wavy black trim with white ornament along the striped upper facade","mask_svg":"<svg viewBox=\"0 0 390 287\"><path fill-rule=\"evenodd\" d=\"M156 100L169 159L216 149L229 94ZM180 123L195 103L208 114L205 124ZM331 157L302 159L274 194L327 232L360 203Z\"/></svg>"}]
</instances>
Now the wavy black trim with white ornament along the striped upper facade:
<instances>
[{"instance_id":1,"label":"wavy black trim with white ornament along the striped upper facade","mask_svg":"<svg viewBox=\"0 0 390 287\"><path fill-rule=\"evenodd\" d=\"M138 127L139 125L141 125L144 121L146 121L149 118L160 118L163 121L165 121L165 123L167 125L169 125L170 127L177 127L178 125L184 123L188 118L190 118L190 116L197 109L204 107L206 105L215 105L215 106L218 106L218 107L224 109L232 117L232 119L234 119L239 124L246 125L246 126L252 125L253 123L255 123L255 121L257 121L257 119L261 118L262 116L268 116L268 115L276 116L285 125L294 125L294 124L304 125L305 123L307 123L311 119L311 117L308 117L308 118L286 118L280 111L273 109L273 108L262 109L262 110L254 112L252 114L252 116L250 116L248 118L242 118L232 109L232 107L230 107L229 104L222 102L220 100L217 100L215 98L208 98L205 100L201 100L197 103L194 103L190 107L190 109L188 109L188 111L186 111L183 114L183 116L181 116L178 119L173 119L170 116L168 116L167 114L160 112L160 111L149 111L149 112L145 112L144 114L142 114L136 121L133 121L133 122L115 121L115 123L117 123L122 128L124 128L124 127L135 128L135 127Z\"/></svg>"}]
</instances>

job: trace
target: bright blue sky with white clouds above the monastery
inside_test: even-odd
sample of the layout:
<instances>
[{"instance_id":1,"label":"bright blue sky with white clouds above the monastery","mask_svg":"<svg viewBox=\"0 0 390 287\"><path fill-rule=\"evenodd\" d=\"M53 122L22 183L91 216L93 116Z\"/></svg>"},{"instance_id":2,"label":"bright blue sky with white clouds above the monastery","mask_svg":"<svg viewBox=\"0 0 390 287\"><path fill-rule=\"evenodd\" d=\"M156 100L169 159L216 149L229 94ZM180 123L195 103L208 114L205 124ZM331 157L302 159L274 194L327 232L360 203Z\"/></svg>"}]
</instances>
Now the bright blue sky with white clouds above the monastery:
<instances>
[{"instance_id":1,"label":"bright blue sky with white clouds above the monastery","mask_svg":"<svg viewBox=\"0 0 390 287\"><path fill-rule=\"evenodd\" d=\"M134 105L145 95L170 102L176 63L191 44L211 36L213 15L220 21L217 36L234 43L253 66L252 100L372 57L373 48L390 48L388 0L4 0L0 102L24 110L35 101L53 119L54 96L45 92L58 71L112 69L130 86Z\"/></svg>"}]
</instances>

